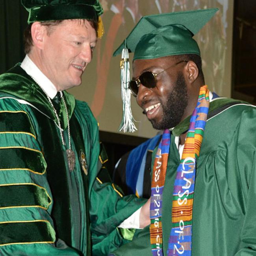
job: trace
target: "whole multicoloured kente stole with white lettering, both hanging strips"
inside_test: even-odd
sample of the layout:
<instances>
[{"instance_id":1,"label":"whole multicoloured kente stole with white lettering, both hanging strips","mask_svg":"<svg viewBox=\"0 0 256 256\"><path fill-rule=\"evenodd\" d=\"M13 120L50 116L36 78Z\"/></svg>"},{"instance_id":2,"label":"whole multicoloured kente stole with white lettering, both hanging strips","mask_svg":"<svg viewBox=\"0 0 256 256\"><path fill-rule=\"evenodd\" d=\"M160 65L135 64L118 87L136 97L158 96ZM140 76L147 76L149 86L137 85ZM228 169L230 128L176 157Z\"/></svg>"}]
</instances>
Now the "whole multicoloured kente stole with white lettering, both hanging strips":
<instances>
[{"instance_id":1,"label":"whole multicoloured kente stole with white lettering, both hanging strips","mask_svg":"<svg viewBox=\"0 0 256 256\"><path fill-rule=\"evenodd\" d=\"M196 160L204 135L209 109L207 85L200 88L197 107L190 119L182 160L177 168L174 181L172 229L168 243L168 256L191 256L192 210L195 187ZM163 255L162 250L162 197L170 148L170 131L164 130L156 152L152 172L150 202L150 243L153 256Z\"/></svg>"}]
</instances>

